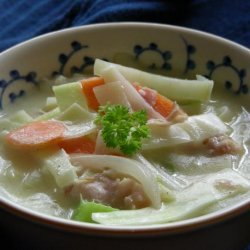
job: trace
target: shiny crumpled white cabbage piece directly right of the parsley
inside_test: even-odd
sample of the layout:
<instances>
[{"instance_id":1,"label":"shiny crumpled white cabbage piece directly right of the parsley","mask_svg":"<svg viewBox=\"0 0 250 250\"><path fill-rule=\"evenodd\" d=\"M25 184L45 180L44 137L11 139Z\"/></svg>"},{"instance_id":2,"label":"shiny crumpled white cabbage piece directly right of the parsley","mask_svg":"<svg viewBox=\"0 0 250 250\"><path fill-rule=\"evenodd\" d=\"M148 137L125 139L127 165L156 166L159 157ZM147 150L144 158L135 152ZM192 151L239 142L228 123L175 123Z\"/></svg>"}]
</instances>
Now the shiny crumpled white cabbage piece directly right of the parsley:
<instances>
[{"instance_id":1,"label":"shiny crumpled white cabbage piece directly right of the parsley","mask_svg":"<svg viewBox=\"0 0 250 250\"><path fill-rule=\"evenodd\" d=\"M189 116L184 122L172 125L166 123L148 123L151 138L145 140L143 149L175 147L180 144L200 143L206 138L230 131L229 126L212 113Z\"/></svg>"}]
</instances>

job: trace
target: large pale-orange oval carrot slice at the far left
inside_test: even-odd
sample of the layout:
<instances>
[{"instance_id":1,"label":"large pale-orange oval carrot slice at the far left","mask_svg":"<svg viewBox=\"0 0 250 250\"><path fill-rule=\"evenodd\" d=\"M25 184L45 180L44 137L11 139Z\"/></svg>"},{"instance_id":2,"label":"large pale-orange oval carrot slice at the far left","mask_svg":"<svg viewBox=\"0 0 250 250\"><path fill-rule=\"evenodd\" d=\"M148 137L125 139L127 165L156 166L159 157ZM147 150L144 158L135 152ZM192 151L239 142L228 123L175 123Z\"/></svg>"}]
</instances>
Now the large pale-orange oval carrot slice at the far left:
<instances>
[{"instance_id":1,"label":"large pale-orange oval carrot slice at the far left","mask_svg":"<svg viewBox=\"0 0 250 250\"><path fill-rule=\"evenodd\" d=\"M20 148L42 148L56 144L65 130L66 127L57 121L33 122L11 131L6 142Z\"/></svg>"}]
</instances>

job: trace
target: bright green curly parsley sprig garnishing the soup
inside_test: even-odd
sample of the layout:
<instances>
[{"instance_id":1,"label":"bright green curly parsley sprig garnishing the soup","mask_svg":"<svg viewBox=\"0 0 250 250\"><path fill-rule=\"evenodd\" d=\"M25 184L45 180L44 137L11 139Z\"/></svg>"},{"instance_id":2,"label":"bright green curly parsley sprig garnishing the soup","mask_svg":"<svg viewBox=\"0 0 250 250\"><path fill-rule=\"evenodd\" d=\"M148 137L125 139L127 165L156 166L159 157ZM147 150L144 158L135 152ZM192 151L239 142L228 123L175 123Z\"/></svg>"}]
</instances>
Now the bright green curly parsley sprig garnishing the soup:
<instances>
[{"instance_id":1,"label":"bright green curly parsley sprig garnishing the soup","mask_svg":"<svg viewBox=\"0 0 250 250\"><path fill-rule=\"evenodd\" d=\"M130 112L126 106L105 105L98 110L95 123L102 127L102 137L107 147L119 148L132 156L141 149L142 139L149 137L147 113Z\"/></svg>"}]
</instances>

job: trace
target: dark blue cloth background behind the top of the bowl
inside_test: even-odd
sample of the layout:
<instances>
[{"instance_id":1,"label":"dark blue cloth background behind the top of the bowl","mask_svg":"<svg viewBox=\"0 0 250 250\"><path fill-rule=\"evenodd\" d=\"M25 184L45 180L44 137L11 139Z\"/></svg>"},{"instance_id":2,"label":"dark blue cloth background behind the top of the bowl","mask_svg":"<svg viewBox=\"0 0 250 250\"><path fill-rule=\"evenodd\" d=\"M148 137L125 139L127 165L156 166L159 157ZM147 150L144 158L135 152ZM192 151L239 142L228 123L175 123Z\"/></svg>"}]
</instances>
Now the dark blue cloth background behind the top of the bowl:
<instances>
[{"instance_id":1,"label":"dark blue cloth background behind the top of the bowl","mask_svg":"<svg viewBox=\"0 0 250 250\"><path fill-rule=\"evenodd\" d=\"M0 51L50 31L120 21L195 28L250 47L249 0L0 0Z\"/></svg>"}]
</instances>

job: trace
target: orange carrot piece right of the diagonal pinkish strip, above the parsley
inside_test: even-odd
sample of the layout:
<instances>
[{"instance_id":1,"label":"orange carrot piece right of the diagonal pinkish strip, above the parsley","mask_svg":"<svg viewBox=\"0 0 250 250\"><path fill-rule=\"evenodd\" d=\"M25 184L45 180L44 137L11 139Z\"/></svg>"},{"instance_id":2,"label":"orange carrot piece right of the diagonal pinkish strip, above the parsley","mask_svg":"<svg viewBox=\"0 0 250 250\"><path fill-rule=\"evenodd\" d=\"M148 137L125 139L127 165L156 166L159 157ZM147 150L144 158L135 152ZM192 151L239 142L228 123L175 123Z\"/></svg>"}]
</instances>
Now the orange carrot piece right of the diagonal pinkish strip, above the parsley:
<instances>
[{"instance_id":1,"label":"orange carrot piece right of the diagonal pinkish strip, above the parsley","mask_svg":"<svg viewBox=\"0 0 250 250\"><path fill-rule=\"evenodd\" d=\"M174 108L174 102L160 95L153 89L141 87L137 83L134 84L138 93L163 117L167 117Z\"/></svg>"}]
</instances>

